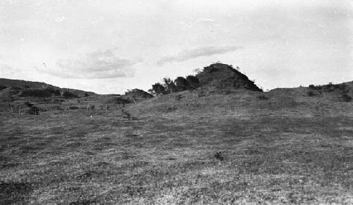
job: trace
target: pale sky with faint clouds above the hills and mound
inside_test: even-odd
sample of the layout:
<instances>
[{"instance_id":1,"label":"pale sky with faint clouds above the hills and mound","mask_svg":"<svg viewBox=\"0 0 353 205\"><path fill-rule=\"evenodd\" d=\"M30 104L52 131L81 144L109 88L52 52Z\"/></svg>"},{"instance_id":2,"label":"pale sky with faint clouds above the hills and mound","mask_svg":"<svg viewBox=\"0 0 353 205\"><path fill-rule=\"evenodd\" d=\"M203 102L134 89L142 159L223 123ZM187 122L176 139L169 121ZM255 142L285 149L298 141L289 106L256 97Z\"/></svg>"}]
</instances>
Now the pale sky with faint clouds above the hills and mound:
<instances>
[{"instance_id":1,"label":"pale sky with faint clouds above the hills and mound","mask_svg":"<svg viewBox=\"0 0 353 205\"><path fill-rule=\"evenodd\" d=\"M99 94L221 62L263 89L353 80L353 1L1 0L0 77Z\"/></svg>"}]
</instances>

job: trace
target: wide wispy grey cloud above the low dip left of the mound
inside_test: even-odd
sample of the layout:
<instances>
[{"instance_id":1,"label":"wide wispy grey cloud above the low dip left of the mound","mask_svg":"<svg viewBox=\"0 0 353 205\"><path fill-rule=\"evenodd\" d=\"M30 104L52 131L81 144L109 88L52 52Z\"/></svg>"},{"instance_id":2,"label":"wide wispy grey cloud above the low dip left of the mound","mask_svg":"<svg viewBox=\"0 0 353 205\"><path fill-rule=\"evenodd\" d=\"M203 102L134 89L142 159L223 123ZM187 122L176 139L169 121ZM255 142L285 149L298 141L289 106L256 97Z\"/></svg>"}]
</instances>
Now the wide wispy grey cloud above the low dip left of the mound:
<instances>
[{"instance_id":1,"label":"wide wispy grey cloud above the low dip left of the mound","mask_svg":"<svg viewBox=\"0 0 353 205\"><path fill-rule=\"evenodd\" d=\"M114 55L112 50L107 50L87 54L77 61L61 59L56 62L56 68L43 65L41 68L36 69L62 78L102 79L132 77L134 70L131 66L138 62L140 60L132 61L119 58Z\"/></svg>"}]
</instances>

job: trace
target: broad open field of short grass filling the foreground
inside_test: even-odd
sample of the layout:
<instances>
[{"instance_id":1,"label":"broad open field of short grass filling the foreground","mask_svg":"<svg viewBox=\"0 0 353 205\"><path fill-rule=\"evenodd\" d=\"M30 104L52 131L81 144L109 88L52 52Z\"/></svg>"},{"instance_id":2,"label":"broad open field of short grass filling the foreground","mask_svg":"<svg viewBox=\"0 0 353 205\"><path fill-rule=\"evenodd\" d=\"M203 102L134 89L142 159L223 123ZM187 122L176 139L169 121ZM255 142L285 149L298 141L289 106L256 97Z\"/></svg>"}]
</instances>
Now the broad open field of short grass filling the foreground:
<instances>
[{"instance_id":1,"label":"broad open field of short grass filling the foreground","mask_svg":"<svg viewBox=\"0 0 353 205\"><path fill-rule=\"evenodd\" d=\"M0 204L353 204L352 103L182 95L1 113Z\"/></svg>"}]
</instances>

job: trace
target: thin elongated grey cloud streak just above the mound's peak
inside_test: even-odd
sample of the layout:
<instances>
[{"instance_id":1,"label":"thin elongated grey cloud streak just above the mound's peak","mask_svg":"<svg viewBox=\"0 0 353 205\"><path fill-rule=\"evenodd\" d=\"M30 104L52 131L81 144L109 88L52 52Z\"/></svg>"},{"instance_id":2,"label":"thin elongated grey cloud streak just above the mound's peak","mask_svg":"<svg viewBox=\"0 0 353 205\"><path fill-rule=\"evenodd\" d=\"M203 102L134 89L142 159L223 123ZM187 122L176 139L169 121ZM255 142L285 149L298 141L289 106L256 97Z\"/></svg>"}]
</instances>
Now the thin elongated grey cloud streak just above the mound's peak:
<instances>
[{"instance_id":1,"label":"thin elongated grey cloud streak just above the mound's peak","mask_svg":"<svg viewBox=\"0 0 353 205\"><path fill-rule=\"evenodd\" d=\"M164 63L181 62L187 61L192 58L198 58L202 56L212 56L215 54L225 54L231 51L237 51L242 49L241 46L204 46L196 49L189 49L179 52L175 56L164 56L157 61L158 66L164 65Z\"/></svg>"}]
</instances>

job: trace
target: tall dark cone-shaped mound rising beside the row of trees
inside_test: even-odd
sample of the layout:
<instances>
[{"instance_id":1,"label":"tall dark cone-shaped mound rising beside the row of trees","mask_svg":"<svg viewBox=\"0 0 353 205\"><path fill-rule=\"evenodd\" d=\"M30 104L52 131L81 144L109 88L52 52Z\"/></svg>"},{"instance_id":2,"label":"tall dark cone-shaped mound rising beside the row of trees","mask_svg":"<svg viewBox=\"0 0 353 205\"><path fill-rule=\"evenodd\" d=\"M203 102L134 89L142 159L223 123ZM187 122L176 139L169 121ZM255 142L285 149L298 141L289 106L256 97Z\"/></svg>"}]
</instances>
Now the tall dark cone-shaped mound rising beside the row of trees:
<instances>
[{"instance_id":1,"label":"tall dark cone-shaped mound rising beside the row of trees","mask_svg":"<svg viewBox=\"0 0 353 205\"><path fill-rule=\"evenodd\" d=\"M214 63L205 67L196 77L200 80L201 85L262 91L246 75L240 73L239 70L234 69L232 66L223 63Z\"/></svg>"}]
</instances>

